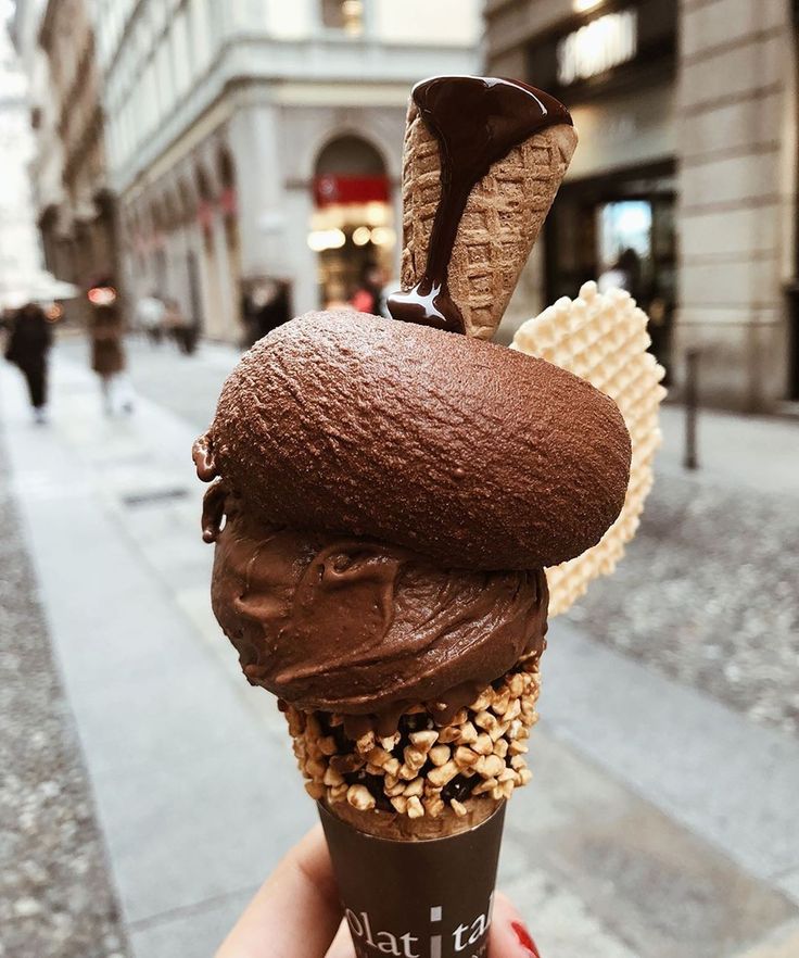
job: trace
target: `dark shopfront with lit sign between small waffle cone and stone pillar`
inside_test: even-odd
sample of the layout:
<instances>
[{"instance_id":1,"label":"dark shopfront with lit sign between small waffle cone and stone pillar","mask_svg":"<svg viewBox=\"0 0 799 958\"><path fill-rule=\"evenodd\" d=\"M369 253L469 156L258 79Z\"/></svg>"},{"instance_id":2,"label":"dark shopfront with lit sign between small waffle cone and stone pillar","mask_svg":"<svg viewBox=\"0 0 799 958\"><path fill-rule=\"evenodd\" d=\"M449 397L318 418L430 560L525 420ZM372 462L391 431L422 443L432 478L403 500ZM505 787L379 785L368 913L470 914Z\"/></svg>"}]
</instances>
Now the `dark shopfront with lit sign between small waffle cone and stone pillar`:
<instances>
[{"instance_id":1,"label":"dark shopfront with lit sign between small waffle cone and stone pillar","mask_svg":"<svg viewBox=\"0 0 799 958\"><path fill-rule=\"evenodd\" d=\"M580 147L544 235L545 302L623 285L671 363L676 303L675 0L604 3L528 47L529 80L571 110Z\"/></svg>"}]
</instances>

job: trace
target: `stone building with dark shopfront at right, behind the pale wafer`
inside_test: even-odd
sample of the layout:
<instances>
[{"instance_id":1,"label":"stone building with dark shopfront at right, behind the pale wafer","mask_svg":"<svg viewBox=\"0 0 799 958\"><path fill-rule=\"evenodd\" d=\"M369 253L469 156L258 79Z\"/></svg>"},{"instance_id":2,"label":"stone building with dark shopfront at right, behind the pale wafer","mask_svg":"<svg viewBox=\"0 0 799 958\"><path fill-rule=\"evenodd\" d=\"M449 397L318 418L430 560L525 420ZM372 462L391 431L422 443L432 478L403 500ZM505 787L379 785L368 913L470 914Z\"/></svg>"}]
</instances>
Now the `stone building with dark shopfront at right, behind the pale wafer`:
<instances>
[{"instance_id":1,"label":"stone building with dark shopfront at right, behind the pale wafer","mask_svg":"<svg viewBox=\"0 0 799 958\"><path fill-rule=\"evenodd\" d=\"M487 71L559 96L581 141L509 310L622 270L678 394L799 399L790 0L489 0Z\"/></svg>"}]
</instances>

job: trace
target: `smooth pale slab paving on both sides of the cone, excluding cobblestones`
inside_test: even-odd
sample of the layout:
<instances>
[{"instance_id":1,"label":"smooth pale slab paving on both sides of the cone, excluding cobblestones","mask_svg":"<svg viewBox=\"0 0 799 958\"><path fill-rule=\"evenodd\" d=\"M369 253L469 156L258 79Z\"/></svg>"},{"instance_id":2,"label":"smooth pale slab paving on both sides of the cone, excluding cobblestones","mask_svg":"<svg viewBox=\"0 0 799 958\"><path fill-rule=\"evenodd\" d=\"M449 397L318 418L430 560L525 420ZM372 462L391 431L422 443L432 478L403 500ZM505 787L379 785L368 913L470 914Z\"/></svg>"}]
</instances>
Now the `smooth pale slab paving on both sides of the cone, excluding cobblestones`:
<instances>
[{"instance_id":1,"label":"smooth pale slab paving on both sides of the cone, excluding cobblestones","mask_svg":"<svg viewBox=\"0 0 799 958\"><path fill-rule=\"evenodd\" d=\"M181 415L165 390L109 421L68 356L47 429L0 370L14 491L134 953L210 956L315 812L282 717L211 615L189 457L204 421L187 421L182 380ZM186 381L218 377L213 356ZM542 955L799 948L799 742L573 623L553 627L544 678L502 864Z\"/></svg>"}]
</instances>

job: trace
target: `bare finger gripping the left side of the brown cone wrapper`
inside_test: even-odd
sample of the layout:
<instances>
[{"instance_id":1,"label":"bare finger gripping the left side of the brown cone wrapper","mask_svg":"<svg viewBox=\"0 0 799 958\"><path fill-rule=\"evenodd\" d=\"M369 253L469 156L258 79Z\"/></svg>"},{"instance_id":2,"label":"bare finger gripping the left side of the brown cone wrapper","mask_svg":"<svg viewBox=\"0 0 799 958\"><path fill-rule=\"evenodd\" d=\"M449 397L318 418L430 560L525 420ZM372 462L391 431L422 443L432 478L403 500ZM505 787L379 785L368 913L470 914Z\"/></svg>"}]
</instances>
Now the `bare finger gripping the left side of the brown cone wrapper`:
<instances>
[{"instance_id":1,"label":"bare finger gripping the left side of the brown cone wrapper","mask_svg":"<svg viewBox=\"0 0 799 958\"><path fill-rule=\"evenodd\" d=\"M341 913L328 846L317 825L278 865L216 958L321 958Z\"/></svg>"}]
</instances>

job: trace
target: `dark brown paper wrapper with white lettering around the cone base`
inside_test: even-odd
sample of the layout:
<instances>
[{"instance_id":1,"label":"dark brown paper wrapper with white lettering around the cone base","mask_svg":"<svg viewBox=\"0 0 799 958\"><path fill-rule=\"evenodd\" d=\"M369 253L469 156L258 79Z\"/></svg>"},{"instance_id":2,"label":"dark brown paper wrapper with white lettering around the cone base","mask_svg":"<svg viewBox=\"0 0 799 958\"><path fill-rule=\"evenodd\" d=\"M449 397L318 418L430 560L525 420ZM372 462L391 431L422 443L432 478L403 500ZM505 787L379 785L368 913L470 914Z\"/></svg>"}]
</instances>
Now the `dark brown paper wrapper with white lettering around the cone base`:
<instances>
[{"instance_id":1,"label":"dark brown paper wrapper with white lettering around the cone base","mask_svg":"<svg viewBox=\"0 0 799 958\"><path fill-rule=\"evenodd\" d=\"M430 841L378 837L318 807L357 958L486 958L504 802Z\"/></svg>"}]
</instances>

